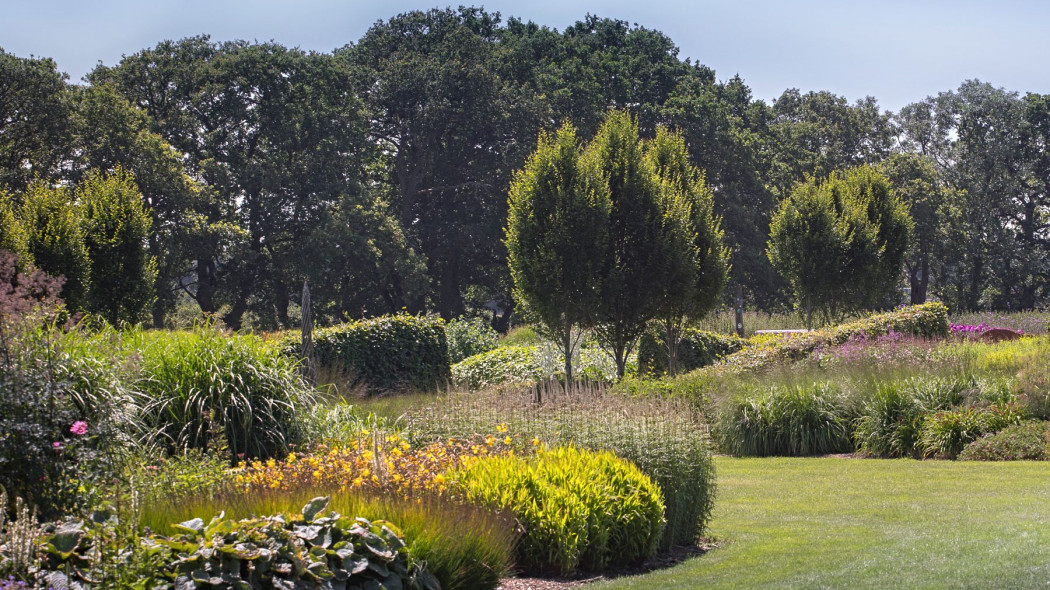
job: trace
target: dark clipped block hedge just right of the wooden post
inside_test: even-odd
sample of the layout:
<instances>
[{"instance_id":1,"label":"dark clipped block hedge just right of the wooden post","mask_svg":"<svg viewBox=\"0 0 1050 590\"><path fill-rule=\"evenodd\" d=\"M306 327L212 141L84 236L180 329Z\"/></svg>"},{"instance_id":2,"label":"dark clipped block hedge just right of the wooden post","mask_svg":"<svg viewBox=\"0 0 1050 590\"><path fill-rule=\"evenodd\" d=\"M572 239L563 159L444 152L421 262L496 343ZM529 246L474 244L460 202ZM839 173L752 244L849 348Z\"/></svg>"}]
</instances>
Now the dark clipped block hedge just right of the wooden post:
<instances>
[{"instance_id":1,"label":"dark clipped block hedge just right of the wooden post","mask_svg":"<svg viewBox=\"0 0 1050 590\"><path fill-rule=\"evenodd\" d=\"M299 354L298 337L286 341ZM384 316L322 328L314 333L314 356L321 366L352 375L371 393L430 392L448 382L448 344L440 318Z\"/></svg>"}]
</instances>

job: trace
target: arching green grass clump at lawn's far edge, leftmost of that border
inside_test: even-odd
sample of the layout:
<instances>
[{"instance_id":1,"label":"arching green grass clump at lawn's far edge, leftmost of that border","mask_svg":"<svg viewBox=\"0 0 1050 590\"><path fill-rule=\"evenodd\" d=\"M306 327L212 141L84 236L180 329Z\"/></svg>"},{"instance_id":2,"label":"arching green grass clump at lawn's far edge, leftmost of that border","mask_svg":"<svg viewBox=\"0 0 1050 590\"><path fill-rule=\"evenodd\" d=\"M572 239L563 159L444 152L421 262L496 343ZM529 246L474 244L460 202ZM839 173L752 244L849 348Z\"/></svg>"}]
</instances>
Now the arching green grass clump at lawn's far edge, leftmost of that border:
<instances>
[{"instance_id":1,"label":"arching green grass clump at lawn's far edge, leftmost of that border","mask_svg":"<svg viewBox=\"0 0 1050 590\"><path fill-rule=\"evenodd\" d=\"M845 402L827 383L744 394L718 417L722 451L744 457L852 450Z\"/></svg>"}]
</instances>

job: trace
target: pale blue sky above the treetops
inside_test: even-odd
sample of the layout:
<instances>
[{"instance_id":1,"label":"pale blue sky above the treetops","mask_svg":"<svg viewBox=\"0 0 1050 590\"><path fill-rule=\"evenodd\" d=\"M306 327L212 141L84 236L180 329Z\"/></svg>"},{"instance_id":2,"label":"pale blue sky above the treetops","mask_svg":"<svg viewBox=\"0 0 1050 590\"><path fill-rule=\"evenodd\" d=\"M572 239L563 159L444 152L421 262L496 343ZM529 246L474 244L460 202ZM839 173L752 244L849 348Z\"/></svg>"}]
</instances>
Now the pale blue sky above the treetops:
<instances>
[{"instance_id":1,"label":"pale blue sky above the treetops","mask_svg":"<svg viewBox=\"0 0 1050 590\"><path fill-rule=\"evenodd\" d=\"M459 3L467 2L457 2ZM475 2L559 30L593 14L660 30L755 98L830 90L884 109L979 79L1050 93L1050 2L1036 0L534 0ZM276 41L331 51L376 21L447 4L411 0L0 0L0 47L49 57L79 81L168 39Z\"/></svg>"}]
</instances>

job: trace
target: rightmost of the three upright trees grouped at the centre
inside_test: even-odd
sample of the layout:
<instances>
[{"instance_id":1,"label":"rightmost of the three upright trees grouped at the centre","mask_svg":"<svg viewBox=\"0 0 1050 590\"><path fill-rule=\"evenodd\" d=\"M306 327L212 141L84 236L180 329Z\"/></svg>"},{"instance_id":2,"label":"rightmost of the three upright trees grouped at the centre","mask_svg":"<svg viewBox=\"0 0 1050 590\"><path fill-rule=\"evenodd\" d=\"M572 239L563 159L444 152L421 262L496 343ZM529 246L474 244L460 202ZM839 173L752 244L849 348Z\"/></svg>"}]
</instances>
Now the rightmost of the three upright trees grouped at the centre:
<instances>
[{"instance_id":1,"label":"rightmost of the three upright trees grouped at the centre","mask_svg":"<svg viewBox=\"0 0 1050 590\"><path fill-rule=\"evenodd\" d=\"M714 216L714 198L704 174L689 162L681 135L664 127L646 145L646 159L664 193L663 240L667 259L657 318L668 346L668 368L677 367L681 331L718 303L729 278L729 252Z\"/></svg>"}]
</instances>

